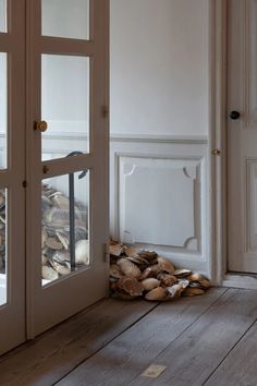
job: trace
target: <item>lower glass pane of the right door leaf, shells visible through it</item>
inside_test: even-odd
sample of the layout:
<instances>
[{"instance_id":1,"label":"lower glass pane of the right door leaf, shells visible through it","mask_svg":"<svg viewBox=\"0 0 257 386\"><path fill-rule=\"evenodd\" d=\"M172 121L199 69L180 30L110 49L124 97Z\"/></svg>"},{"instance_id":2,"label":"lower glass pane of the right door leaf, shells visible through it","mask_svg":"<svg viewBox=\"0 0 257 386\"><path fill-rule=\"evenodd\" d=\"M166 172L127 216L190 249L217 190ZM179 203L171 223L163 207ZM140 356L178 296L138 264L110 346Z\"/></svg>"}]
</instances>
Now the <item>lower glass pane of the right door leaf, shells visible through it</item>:
<instances>
[{"instance_id":1,"label":"lower glass pane of the right door leaf, shells visible through it","mask_svg":"<svg viewBox=\"0 0 257 386\"><path fill-rule=\"evenodd\" d=\"M88 267L89 263L89 171L44 180L42 286Z\"/></svg>"}]
</instances>

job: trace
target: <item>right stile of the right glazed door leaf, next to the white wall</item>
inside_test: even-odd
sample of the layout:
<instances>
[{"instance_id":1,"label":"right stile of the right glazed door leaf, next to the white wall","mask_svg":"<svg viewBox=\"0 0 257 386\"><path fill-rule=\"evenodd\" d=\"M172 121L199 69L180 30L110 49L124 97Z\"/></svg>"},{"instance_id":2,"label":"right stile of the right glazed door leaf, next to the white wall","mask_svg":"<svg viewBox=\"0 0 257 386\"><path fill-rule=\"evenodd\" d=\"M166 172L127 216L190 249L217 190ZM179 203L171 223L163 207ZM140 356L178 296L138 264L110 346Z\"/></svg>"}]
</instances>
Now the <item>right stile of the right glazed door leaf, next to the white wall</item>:
<instances>
[{"instance_id":1,"label":"right stile of the right glazed door leaf, next to the white wall","mask_svg":"<svg viewBox=\"0 0 257 386\"><path fill-rule=\"evenodd\" d=\"M98 16L100 14L100 17ZM94 93L93 107L93 117L96 119L95 124L91 124L91 128L99 128L98 131L91 133L91 146L93 146L93 156L95 157L95 165L97 166L97 172L95 172L95 178L98 178L98 181L95 181L95 195L99 194L97 203L95 203L95 213L96 218L101 218L103 226L100 228L100 234L97 236L99 242L96 243L98 255L105 255L108 251L107 245L109 245L109 21L110 21L110 1L109 0L99 0L96 1L95 5L95 17L94 17L94 38L98 41L98 51L95 55L96 68L94 77L95 89L98 93ZM106 33L102 33L106 32ZM99 100L98 100L99 98ZM102 149L99 153L98 148ZM102 190L97 192L98 186L102 185ZM94 205L94 203L93 203ZM102 214L107 210L106 216ZM97 225L93 225L93 229L97 229ZM105 243L102 244L102 240ZM108 295L109 288L109 262L106 264L106 295Z\"/></svg>"}]
</instances>

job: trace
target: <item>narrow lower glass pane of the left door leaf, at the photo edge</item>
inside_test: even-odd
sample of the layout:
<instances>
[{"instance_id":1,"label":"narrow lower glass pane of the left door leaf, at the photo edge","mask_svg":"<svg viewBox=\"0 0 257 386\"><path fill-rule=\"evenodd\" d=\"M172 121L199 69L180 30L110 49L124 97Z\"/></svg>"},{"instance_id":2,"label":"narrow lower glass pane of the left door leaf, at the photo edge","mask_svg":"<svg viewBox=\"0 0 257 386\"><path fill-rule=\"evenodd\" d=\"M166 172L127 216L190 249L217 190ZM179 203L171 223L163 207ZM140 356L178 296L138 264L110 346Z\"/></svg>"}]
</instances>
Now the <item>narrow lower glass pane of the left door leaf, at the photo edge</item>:
<instances>
[{"instance_id":1,"label":"narrow lower glass pane of the left door leaf, at the photo edge","mask_svg":"<svg viewBox=\"0 0 257 386\"><path fill-rule=\"evenodd\" d=\"M0 305L7 303L7 192L0 189Z\"/></svg>"}]
</instances>

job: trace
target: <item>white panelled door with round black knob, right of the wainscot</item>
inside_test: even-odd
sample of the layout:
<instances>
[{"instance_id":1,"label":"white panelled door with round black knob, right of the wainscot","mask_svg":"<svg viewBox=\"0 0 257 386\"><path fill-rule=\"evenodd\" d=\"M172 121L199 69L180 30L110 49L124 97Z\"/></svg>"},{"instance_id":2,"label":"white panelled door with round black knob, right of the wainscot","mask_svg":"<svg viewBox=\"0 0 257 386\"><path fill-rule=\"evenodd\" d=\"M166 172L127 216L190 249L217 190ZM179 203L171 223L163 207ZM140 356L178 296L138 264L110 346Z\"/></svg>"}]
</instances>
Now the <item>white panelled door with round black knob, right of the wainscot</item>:
<instances>
[{"instance_id":1,"label":"white panelled door with round black knob, right of the wainscot","mask_svg":"<svg viewBox=\"0 0 257 386\"><path fill-rule=\"evenodd\" d=\"M257 1L229 1L229 270L257 273Z\"/></svg>"}]
</instances>

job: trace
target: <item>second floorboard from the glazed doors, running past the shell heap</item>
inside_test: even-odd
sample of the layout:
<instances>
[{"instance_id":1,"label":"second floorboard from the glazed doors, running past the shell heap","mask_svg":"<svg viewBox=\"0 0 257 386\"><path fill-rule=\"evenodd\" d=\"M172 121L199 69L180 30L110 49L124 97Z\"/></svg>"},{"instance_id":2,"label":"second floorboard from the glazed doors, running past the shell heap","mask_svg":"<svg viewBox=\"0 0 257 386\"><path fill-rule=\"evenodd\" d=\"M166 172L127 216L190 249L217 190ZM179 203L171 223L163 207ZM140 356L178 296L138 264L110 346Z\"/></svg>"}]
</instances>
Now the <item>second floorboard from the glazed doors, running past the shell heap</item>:
<instances>
[{"instance_id":1,"label":"second floorboard from the glazed doors, running past the shell heap","mask_svg":"<svg viewBox=\"0 0 257 386\"><path fill-rule=\"evenodd\" d=\"M203 297L160 304L58 385L128 385L224 292L217 288Z\"/></svg>"}]
</instances>

